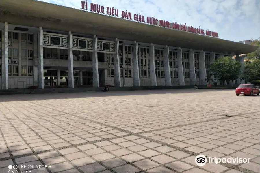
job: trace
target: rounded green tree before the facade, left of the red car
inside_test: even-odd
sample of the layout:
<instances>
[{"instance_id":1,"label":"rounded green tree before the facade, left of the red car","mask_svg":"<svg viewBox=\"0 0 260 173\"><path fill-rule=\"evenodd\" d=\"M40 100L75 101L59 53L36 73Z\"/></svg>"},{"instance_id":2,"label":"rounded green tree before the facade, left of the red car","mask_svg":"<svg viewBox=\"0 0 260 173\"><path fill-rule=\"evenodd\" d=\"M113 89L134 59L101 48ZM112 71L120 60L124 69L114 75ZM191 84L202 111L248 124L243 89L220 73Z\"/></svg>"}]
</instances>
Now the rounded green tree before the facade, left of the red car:
<instances>
[{"instance_id":1,"label":"rounded green tree before the facade, left of the red car","mask_svg":"<svg viewBox=\"0 0 260 173\"><path fill-rule=\"evenodd\" d=\"M234 61L232 57L220 57L209 65L208 72L224 85L225 80L236 80L240 74L242 64Z\"/></svg>"}]
</instances>

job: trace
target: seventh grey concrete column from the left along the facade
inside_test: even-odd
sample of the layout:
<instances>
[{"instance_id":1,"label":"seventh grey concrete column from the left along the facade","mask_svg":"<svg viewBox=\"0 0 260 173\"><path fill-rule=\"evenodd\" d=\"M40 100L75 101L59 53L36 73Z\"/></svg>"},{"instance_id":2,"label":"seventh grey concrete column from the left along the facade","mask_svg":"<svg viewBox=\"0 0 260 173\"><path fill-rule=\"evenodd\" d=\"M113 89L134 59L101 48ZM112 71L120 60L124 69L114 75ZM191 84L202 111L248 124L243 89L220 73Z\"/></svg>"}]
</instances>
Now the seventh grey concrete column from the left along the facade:
<instances>
[{"instance_id":1,"label":"seventh grey concrete column from the left along the facade","mask_svg":"<svg viewBox=\"0 0 260 173\"><path fill-rule=\"evenodd\" d=\"M154 60L154 45L151 43L149 46L150 86L157 86Z\"/></svg>"}]
</instances>

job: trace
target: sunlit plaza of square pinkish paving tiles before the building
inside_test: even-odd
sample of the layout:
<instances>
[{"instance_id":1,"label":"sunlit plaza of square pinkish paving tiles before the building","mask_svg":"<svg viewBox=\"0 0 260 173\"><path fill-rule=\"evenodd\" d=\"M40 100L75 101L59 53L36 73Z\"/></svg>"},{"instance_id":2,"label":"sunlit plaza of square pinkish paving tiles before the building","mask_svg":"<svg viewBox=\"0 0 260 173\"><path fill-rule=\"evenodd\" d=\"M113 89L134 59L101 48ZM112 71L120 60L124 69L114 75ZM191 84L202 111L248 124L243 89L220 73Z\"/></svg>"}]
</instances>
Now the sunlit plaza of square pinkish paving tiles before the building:
<instances>
[{"instance_id":1,"label":"sunlit plaza of square pinkish paving tiles before the building","mask_svg":"<svg viewBox=\"0 0 260 173\"><path fill-rule=\"evenodd\" d=\"M1 95L0 173L260 172L259 108L234 89Z\"/></svg>"}]
</instances>

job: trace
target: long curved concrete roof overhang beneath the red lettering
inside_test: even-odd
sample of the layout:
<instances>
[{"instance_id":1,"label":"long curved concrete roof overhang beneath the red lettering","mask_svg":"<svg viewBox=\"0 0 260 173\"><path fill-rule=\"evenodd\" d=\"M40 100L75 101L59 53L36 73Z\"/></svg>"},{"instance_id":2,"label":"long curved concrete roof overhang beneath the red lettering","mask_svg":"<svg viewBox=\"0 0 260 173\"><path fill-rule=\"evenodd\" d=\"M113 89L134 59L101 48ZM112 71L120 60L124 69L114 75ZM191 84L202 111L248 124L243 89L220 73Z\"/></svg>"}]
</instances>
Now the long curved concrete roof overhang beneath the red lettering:
<instances>
[{"instance_id":1,"label":"long curved concrete roof overhang beneath the red lettering","mask_svg":"<svg viewBox=\"0 0 260 173\"><path fill-rule=\"evenodd\" d=\"M0 22L14 25L71 31L224 54L247 54L258 48L34 0L1 0L0 16Z\"/></svg>"}]
</instances>

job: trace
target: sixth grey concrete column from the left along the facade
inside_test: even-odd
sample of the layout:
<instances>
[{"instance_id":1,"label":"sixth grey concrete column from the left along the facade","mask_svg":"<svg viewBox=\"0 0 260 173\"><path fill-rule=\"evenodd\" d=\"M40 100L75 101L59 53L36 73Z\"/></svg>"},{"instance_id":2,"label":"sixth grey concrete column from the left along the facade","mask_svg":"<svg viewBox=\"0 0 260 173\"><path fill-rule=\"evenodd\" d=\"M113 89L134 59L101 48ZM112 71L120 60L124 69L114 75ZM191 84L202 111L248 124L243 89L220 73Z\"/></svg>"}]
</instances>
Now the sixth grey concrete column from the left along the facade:
<instances>
[{"instance_id":1,"label":"sixth grey concrete column from the left along the facade","mask_svg":"<svg viewBox=\"0 0 260 173\"><path fill-rule=\"evenodd\" d=\"M138 43L133 44L133 86L140 86L139 66L138 66Z\"/></svg>"}]
</instances>

